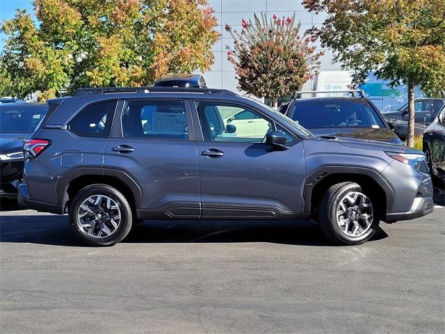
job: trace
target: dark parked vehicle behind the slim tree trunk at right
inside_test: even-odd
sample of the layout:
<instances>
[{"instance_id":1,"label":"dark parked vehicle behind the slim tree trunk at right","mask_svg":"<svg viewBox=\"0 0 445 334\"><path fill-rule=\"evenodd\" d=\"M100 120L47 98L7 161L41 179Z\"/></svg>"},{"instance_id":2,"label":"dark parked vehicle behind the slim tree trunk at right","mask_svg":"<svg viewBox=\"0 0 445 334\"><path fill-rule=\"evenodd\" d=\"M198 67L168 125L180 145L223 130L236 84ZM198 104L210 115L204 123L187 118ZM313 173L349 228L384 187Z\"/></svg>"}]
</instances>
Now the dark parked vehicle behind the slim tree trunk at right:
<instances>
[{"instance_id":1,"label":"dark parked vehicle behind the slim tree trunk at right","mask_svg":"<svg viewBox=\"0 0 445 334\"><path fill-rule=\"evenodd\" d=\"M414 122L429 125L444 105L443 99L420 98L414 101ZM396 120L408 120L408 104L403 105L398 111L383 113L388 118Z\"/></svg>"}]
</instances>

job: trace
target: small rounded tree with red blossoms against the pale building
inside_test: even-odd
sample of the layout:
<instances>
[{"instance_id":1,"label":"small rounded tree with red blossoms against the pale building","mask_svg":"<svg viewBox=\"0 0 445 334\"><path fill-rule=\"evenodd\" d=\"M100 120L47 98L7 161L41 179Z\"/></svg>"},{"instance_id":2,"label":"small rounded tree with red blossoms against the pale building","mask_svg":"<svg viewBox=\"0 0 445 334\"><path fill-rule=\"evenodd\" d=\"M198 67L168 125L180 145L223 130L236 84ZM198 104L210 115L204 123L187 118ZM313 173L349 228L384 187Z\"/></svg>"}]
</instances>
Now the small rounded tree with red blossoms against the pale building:
<instances>
[{"instance_id":1,"label":"small rounded tree with red blossoms against the pale building","mask_svg":"<svg viewBox=\"0 0 445 334\"><path fill-rule=\"evenodd\" d=\"M278 97L300 90L320 64L321 52L316 53L310 38L300 38L301 24L293 17L242 21L241 33L225 29L234 39L227 58L234 64L238 88L256 97L267 97L277 106Z\"/></svg>"}]
</instances>

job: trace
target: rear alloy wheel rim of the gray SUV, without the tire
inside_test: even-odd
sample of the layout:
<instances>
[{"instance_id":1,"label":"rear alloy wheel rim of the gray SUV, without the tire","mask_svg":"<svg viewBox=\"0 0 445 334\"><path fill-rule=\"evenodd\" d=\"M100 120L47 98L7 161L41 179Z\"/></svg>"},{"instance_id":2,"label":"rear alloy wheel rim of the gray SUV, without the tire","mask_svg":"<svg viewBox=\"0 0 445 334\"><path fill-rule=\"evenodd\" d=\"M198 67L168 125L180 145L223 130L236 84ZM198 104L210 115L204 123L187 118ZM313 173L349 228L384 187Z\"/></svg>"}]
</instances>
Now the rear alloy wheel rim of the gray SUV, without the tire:
<instances>
[{"instance_id":1,"label":"rear alloy wheel rim of the gray SUV, without the tire","mask_svg":"<svg viewBox=\"0 0 445 334\"><path fill-rule=\"evenodd\" d=\"M120 225L121 214L117 202L105 195L92 195L83 200L77 212L80 230L93 238L109 237Z\"/></svg>"}]
</instances>

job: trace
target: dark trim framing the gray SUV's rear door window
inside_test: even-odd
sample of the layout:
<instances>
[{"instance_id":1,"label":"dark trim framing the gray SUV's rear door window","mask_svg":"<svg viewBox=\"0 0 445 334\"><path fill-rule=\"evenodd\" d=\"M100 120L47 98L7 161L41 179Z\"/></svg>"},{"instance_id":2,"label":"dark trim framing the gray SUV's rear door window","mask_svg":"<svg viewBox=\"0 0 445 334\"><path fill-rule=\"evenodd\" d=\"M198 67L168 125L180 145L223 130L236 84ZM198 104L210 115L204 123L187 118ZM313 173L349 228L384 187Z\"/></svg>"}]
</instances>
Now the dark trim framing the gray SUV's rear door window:
<instances>
[{"instance_id":1,"label":"dark trim framing the gray SUV's rear door window","mask_svg":"<svg viewBox=\"0 0 445 334\"><path fill-rule=\"evenodd\" d=\"M147 101L147 102L159 102L159 101L180 101L184 102L184 109L186 111L186 122L188 128L188 139L177 139L177 138L145 138L145 137L128 137L124 136L124 130L122 127L122 113L124 112L124 106L126 102L130 101ZM167 98L167 97L134 97L134 98L124 98L120 99L118 103L118 110L115 113L115 125L113 125L113 129L111 129L111 138L128 138L128 139L140 139L145 141L195 141L195 129L193 127L193 120L191 116L191 107L188 99L183 99L180 97L177 98Z\"/></svg>"}]
</instances>

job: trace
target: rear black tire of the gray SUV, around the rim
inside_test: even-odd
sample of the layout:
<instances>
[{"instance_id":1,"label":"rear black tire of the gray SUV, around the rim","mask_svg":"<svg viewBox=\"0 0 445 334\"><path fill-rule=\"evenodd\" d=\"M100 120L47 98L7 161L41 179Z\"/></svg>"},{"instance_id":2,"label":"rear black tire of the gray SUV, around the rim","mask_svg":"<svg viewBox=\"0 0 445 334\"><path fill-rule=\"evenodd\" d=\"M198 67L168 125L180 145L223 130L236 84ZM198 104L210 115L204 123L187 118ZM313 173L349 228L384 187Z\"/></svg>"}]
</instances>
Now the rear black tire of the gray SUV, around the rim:
<instances>
[{"instance_id":1,"label":"rear black tire of the gray SUV, around the rim","mask_svg":"<svg viewBox=\"0 0 445 334\"><path fill-rule=\"evenodd\" d=\"M120 209L120 223L115 232L109 236L90 237L86 232L83 232L83 229L79 225L78 212L82 202L90 196L95 195L108 196ZM127 237L127 234L130 232L133 220L131 207L125 196L117 189L106 184L92 184L79 191L72 200L68 214L72 231L83 244L87 244L88 246L113 246L122 241L122 239Z\"/></svg>"}]
</instances>

